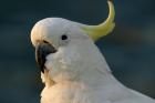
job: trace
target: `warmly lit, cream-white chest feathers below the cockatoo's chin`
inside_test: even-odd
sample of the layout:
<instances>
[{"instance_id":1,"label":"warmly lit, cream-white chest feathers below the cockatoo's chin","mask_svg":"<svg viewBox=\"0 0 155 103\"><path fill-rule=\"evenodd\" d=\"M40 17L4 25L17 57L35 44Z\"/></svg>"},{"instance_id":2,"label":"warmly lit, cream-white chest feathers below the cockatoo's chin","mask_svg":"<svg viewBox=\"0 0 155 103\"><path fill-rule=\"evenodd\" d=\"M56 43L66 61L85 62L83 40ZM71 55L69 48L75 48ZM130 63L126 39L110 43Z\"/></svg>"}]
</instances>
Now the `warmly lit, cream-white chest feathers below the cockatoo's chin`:
<instances>
[{"instance_id":1,"label":"warmly lit, cream-white chest feathers below the cockatoo's chin","mask_svg":"<svg viewBox=\"0 0 155 103\"><path fill-rule=\"evenodd\" d=\"M93 102L93 91L82 84L62 83L44 87L41 103L96 103Z\"/></svg>"}]
</instances>

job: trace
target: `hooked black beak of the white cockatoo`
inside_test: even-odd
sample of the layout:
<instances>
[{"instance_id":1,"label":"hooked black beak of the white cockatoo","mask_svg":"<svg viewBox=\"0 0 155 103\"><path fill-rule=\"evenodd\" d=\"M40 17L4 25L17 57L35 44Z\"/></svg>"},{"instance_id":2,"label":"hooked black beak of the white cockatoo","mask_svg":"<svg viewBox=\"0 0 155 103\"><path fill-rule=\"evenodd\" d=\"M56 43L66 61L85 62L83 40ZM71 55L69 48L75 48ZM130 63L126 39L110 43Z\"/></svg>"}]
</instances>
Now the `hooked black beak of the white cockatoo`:
<instances>
[{"instance_id":1,"label":"hooked black beak of the white cockatoo","mask_svg":"<svg viewBox=\"0 0 155 103\"><path fill-rule=\"evenodd\" d=\"M40 68L41 72L44 73L44 63L46 61L46 55L50 53L55 53L56 50L55 48L48 43L48 42L39 42L38 45L35 47L35 60L38 63L38 66Z\"/></svg>"}]
</instances>

